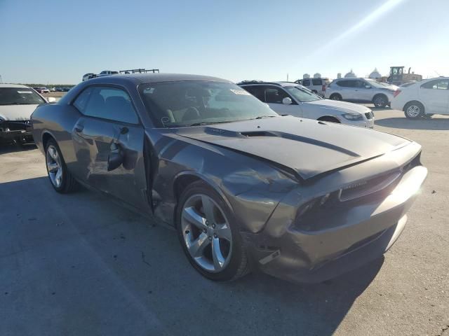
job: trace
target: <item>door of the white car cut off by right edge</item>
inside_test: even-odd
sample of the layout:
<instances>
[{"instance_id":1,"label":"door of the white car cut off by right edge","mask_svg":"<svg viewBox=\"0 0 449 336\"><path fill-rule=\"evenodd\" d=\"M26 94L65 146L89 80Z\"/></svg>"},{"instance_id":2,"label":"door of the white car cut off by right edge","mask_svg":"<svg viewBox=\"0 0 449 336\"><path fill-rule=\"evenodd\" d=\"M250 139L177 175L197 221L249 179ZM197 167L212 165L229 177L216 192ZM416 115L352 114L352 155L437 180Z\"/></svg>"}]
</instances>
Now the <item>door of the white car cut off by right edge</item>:
<instances>
[{"instance_id":1,"label":"door of the white car cut off by right edge","mask_svg":"<svg viewBox=\"0 0 449 336\"><path fill-rule=\"evenodd\" d=\"M420 100L428 113L449 114L449 79L438 78L420 86Z\"/></svg>"}]
</instances>

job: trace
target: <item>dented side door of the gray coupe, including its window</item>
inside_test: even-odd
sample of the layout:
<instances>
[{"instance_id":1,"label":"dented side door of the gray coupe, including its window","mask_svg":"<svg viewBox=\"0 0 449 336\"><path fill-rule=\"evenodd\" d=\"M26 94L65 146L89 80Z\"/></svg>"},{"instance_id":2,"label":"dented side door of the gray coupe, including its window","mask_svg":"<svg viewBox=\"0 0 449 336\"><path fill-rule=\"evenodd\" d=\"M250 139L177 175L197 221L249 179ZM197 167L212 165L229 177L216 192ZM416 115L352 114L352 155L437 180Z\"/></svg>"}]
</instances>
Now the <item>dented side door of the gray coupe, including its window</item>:
<instances>
[{"instance_id":1,"label":"dented side door of the gray coupe, including its window","mask_svg":"<svg viewBox=\"0 0 449 336\"><path fill-rule=\"evenodd\" d=\"M91 86L74 107L81 112L72 130L76 175L123 202L148 209L144 129L129 94L120 87Z\"/></svg>"}]
</instances>

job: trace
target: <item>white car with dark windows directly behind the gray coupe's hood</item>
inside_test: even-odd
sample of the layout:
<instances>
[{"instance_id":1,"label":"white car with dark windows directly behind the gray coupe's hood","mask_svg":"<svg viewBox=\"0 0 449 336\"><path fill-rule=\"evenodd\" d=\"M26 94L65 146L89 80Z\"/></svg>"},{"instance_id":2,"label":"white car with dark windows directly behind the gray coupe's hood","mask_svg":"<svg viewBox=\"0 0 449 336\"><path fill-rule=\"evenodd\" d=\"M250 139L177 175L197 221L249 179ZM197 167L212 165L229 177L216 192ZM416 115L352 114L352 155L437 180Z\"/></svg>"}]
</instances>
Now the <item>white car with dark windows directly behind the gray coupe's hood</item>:
<instances>
[{"instance_id":1,"label":"white car with dark windows directly behind the gray coupe's hood","mask_svg":"<svg viewBox=\"0 0 449 336\"><path fill-rule=\"evenodd\" d=\"M374 127L374 115L368 107L323 99L302 85L289 82L246 82L239 83L239 86L279 114Z\"/></svg>"}]
</instances>

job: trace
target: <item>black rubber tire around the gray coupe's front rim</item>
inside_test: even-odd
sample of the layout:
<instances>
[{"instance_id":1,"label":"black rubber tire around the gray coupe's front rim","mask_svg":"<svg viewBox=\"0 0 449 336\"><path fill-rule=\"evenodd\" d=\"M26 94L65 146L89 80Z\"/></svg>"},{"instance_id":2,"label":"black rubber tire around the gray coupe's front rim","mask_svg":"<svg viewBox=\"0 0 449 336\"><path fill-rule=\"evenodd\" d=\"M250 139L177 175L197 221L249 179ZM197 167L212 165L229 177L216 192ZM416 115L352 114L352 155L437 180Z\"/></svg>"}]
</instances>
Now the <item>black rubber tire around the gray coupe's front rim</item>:
<instances>
[{"instance_id":1,"label":"black rubber tire around the gray coupe's front rim","mask_svg":"<svg viewBox=\"0 0 449 336\"><path fill-rule=\"evenodd\" d=\"M182 232L181 217L185 203L187 202L187 200L189 200L190 197L195 195L206 195L210 197L222 209L222 211L225 213L227 221L229 222L229 227L232 232L232 251L227 266L225 266L225 268L223 268L220 272L209 272L208 270L198 265L198 263L194 260L194 258L192 258L192 255L190 255L189 250L187 249L184 232ZM215 190L213 190L213 188L210 188L210 186L208 186L206 183L204 183L203 181L196 181L185 188L185 190L180 195L175 221L177 235L180 239L182 250L187 256L190 264L201 275L213 281L233 281L250 272L246 246L244 245L243 239L241 238L239 225L235 220L235 216L232 211L230 211L226 202L222 200L222 197Z\"/></svg>"}]
</instances>

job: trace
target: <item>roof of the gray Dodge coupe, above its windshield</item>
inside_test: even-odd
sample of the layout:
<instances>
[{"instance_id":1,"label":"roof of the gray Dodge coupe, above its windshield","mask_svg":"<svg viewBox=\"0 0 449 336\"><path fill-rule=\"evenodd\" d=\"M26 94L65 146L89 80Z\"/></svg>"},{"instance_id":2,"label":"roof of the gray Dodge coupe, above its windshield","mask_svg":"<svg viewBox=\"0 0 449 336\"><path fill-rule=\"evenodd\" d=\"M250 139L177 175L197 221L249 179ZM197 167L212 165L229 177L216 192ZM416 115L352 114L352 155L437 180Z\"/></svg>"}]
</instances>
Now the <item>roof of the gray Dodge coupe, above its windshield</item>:
<instances>
[{"instance_id":1,"label":"roof of the gray Dodge coupe, above its windshield","mask_svg":"<svg viewBox=\"0 0 449 336\"><path fill-rule=\"evenodd\" d=\"M213 82L231 83L222 78L188 75L185 73L124 73L117 75L101 76L86 80L88 83L132 83L135 85L143 83L177 82L185 80L203 80Z\"/></svg>"}]
</instances>

